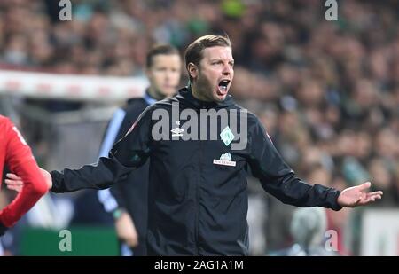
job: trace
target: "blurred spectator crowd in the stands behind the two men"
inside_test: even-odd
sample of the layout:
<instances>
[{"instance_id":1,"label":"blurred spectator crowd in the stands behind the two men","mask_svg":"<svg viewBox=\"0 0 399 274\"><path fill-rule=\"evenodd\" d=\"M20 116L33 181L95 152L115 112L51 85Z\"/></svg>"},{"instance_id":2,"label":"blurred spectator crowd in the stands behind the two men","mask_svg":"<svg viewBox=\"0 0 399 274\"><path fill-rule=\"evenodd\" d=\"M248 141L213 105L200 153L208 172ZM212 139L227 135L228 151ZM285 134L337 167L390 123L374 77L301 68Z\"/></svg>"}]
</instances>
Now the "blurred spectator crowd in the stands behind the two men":
<instances>
[{"instance_id":1,"label":"blurred spectator crowd in the stands behind the two men","mask_svg":"<svg viewBox=\"0 0 399 274\"><path fill-rule=\"evenodd\" d=\"M375 207L399 206L398 1L338 1L337 21L320 0L73 0L71 21L58 4L0 1L0 68L143 75L155 42L184 51L200 35L227 34L231 93L298 176L339 189L370 180L384 191ZM339 231L347 218L328 212ZM270 248L288 245L267 233Z\"/></svg>"}]
</instances>

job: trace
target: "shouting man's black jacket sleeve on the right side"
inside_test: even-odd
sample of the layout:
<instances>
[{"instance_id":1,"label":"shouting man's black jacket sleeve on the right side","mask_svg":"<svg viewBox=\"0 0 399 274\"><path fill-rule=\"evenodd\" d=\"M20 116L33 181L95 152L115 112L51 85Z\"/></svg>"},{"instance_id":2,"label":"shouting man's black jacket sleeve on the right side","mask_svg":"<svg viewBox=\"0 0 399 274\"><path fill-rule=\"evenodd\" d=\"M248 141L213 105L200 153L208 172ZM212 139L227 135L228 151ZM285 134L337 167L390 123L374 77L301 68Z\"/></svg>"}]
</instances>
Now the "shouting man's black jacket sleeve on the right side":
<instances>
[{"instance_id":1,"label":"shouting man's black jacket sleeve on the right side","mask_svg":"<svg viewBox=\"0 0 399 274\"><path fill-rule=\"evenodd\" d=\"M340 191L320 184L310 185L297 178L271 142L256 117L249 128L249 164L263 189L286 204L296 207L327 207L340 210Z\"/></svg>"}]
</instances>

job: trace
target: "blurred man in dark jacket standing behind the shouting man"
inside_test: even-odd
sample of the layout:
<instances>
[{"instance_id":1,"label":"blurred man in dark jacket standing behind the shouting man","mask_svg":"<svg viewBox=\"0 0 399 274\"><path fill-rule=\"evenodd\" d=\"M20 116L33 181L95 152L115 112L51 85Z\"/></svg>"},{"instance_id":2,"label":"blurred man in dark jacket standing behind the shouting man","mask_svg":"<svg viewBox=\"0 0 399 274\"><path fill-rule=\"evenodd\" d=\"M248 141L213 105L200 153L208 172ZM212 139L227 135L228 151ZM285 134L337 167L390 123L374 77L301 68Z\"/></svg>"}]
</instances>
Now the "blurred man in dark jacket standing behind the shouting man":
<instances>
[{"instance_id":1,"label":"blurred man in dark jacket standing behind the shouting man","mask_svg":"<svg viewBox=\"0 0 399 274\"><path fill-rule=\"evenodd\" d=\"M113 114L106 129L100 157L107 156L113 144L129 130L147 106L175 95L182 72L179 51L169 44L156 44L146 56L145 74L149 87L143 98L130 98L126 106ZM113 214L115 230L121 240L121 255L146 254L147 192L149 162L131 172L122 184L98 191L98 200Z\"/></svg>"}]
</instances>

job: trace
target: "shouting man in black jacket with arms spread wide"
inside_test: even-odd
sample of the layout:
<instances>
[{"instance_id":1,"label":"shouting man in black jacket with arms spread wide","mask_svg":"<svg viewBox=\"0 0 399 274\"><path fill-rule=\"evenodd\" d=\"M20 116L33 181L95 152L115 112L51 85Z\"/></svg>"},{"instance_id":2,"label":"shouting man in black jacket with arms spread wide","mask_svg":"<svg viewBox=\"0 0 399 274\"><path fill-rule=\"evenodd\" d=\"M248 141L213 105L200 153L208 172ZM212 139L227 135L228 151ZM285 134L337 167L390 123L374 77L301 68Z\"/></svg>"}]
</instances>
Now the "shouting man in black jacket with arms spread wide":
<instances>
[{"instance_id":1,"label":"shouting man in black jacket with arms spread wide","mask_svg":"<svg viewBox=\"0 0 399 274\"><path fill-rule=\"evenodd\" d=\"M147 252L151 255L248 254L246 175L298 207L356 207L380 199L370 183L342 192L294 176L254 114L228 90L230 40L207 35L190 44L191 85L149 106L95 165L44 172L52 192L104 189L150 159Z\"/></svg>"}]
</instances>

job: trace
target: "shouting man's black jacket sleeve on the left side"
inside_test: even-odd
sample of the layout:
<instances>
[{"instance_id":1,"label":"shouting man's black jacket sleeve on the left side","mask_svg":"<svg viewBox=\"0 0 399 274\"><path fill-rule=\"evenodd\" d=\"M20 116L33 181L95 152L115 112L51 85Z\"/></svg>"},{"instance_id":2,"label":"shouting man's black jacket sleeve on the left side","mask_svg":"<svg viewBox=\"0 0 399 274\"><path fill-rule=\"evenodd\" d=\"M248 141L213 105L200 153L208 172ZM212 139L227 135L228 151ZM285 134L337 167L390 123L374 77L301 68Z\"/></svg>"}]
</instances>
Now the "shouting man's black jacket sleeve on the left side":
<instances>
[{"instance_id":1,"label":"shouting man's black jacket sleeve on the left side","mask_svg":"<svg viewBox=\"0 0 399 274\"><path fill-rule=\"evenodd\" d=\"M51 192L106 189L141 167L151 152L151 115L151 109L147 107L125 137L113 145L108 157L100 157L96 164L51 171Z\"/></svg>"}]
</instances>

